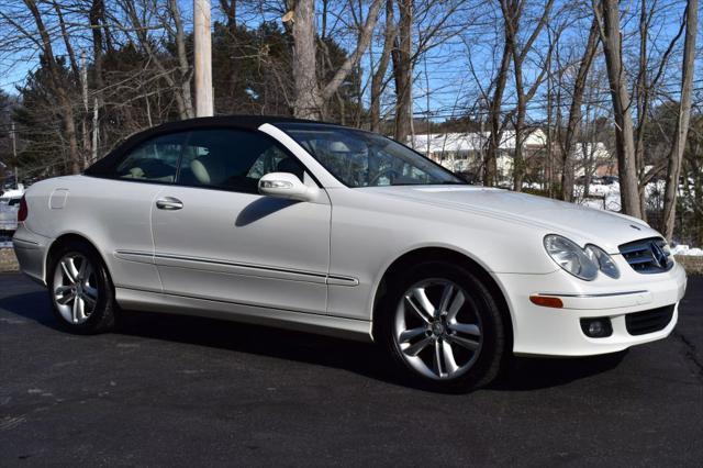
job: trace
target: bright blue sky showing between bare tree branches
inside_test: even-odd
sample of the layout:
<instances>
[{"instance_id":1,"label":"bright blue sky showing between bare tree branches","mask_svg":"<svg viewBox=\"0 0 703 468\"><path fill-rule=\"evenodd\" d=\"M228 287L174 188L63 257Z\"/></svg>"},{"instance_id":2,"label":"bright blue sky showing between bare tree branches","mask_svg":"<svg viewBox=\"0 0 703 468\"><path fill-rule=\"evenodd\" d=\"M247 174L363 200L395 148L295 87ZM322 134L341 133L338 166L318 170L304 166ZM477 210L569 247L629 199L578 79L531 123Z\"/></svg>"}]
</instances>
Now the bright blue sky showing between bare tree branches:
<instances>
[{"instance_id":1,"label":"bright blue sky showing between bare tree branches","mask_svg":"<svg viewBox=\"0 0 703 468\"><path fill-rule=\"evenodd\" d=\"M443 4L449 4L450 1ZM190 30L190 18L192 12L192 3L190 1L180 1L180 8L186 19L186 27ZM535 12L539 12L538 7L540 2L534 3L537 9ZM561 8L566 4L566 0L557 1L555 9ZM625 21L623 30L625 34L629 34L636 30L636 14L637 3L634 1L625 1L623 18L629 18L629 21ZM213 20L221 18L221 13L216 8L216 2L213 2ZM669 37L672 37L678 31L679 19L683 14L684 1L670 0L668 2L658 3L660 11L652 22L650 32L652 36L659 38L659 44L668 44ZM15 10L19 9L19 10ZM365 13L366 13L365 7ZM23 7L16 1L3 2L0 7L3 12L12 13L22 11ZM496 36L500 36L501 32L495 29L500 27L500 19L495 18L495 9L490 4L486 5L479 2L460 2L460 8L450 16L445 25L444 33L437 35L434 38L433 48L420 59L415 66L415 81L413 88L413 109L416 116L429 115L433 120L442 121L448 116L465 114L471 110L475 110L475 103L477 96L481 88L486 89L490 85L492 76L493 64L499 57L493 57L495 52L495 44L499 41ZM19 13L18 13L19 14ZM241 11L241 19L247 22L247 24L255 26L261 21L261 18L268 20L280 21L279 12L269 10L264 15L259 10L255 12ZM432 27L434 21L432 14L427 15L424 22L421 22L417 30L414 32L414 40L417 42L422 37L420 30L427 30ZM348 20L348 16L339 16L339 22ZM571 13L570 16L562 15L559 18L569 27L562 34L561 40L563 44L573 43L576 49L579 49L579 44L584 42L584 35L588 34L589 21L588 19L579 20L576 13ZM436 20L435 20L436 21ZM556 27L556 26L555 26ZM493 29L493 31L491 31ZM700 34L701 36L702 34ZM335 35L336 40L342 43L343 46L349 51L354 46L356 33L350 30L339 30ZM636 37L634 41L628 41L628 44L635 45L637 43ZM699 40L699 43L703 41L703 37ZM682 41L681 41L682 44ZM361 67L368 71L370 69L371 57L373 60L378 59L378 54L382 47L382 37L378 35L375 37L371 51L364 55L361 60ZM56 45L57 54L62 53L62 44ZM532 82L534 77L538 73L538 60L544 55L544 51L547 48L546 34L543 34L540 40L535 44L535 51L528 56L527 64L525 66L525 81ZM500 53L500 49L498 51ZM655 47L652 55L660 54L659 49ZM699 58L699 63L701 59ZM26 48L22 53L2 53L0 49L0 89L9 93L16 93L14 87L21 83L29 70L34 69L37 65L37 56L34 49ZM470 71L471 65L473 66L476 76ZM598 66L598 63L596 63ZM676 64L668 67L666 70L667 76L662 81L667 83L667 90L676 94L678 90L678 73ZM703 80L701 80L701 67L699 66L699 73L696 74L696 86L703 87ZM514 102L512 96L513 81L512 78L507 85L507 92L505 96L505 107L510 108ZM368 100L368 91L366 93ZM544 118L545 102L545 89L544 87L535 96L531 104L531 115L533 118ZM484 111L476 111L484 112ZM476 114L475 112L475 114Z\"/></svg>"}]
</instances>

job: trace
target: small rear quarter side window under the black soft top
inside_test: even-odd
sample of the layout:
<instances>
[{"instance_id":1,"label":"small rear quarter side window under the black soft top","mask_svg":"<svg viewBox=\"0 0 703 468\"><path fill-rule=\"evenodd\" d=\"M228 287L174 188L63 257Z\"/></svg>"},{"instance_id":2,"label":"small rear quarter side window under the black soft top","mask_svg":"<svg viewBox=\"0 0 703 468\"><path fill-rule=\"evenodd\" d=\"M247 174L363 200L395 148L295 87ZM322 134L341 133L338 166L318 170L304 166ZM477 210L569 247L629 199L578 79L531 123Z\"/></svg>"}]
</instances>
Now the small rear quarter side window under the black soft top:
<instances>
[{"instance_id":1,"label":"small rear quarter side window under the black soft top","mask_svg":"<svg viewBox=\"0 0 703 468\"><path fill-rule=\"evenodd\" d=\"M116 177L158 182L175 181L186 136L187 133L172 133L142 143L118 165Z\"/></svg>"}]
</instances>

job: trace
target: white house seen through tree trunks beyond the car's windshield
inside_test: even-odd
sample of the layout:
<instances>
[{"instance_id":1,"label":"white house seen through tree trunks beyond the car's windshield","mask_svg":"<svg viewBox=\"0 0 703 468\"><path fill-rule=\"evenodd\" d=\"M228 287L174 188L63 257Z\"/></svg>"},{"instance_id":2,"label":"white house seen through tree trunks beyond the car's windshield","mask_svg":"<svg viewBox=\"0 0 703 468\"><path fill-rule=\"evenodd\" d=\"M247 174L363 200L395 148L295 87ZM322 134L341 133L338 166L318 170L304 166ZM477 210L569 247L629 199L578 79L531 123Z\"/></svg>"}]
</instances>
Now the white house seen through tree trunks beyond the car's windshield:
<instances>
[{"instance_id":1,"label":"white house seen through tree trunks beyond the car's windshield","mask_svg":"<svg viewBox=\"0 0 703 468\"><path fill-rule=\"evenodd\" d=\"M483 154L488 147L490 132L472 133L432 133L415 135L412 146L432 160L455 172L480 171ZM526 157L547 146L547 135L542 129L533 130L523 142ZM506 179L513 170L515 152L515 132L503 132L496 165L500 179Z\"/></svg>"}]
</instances>

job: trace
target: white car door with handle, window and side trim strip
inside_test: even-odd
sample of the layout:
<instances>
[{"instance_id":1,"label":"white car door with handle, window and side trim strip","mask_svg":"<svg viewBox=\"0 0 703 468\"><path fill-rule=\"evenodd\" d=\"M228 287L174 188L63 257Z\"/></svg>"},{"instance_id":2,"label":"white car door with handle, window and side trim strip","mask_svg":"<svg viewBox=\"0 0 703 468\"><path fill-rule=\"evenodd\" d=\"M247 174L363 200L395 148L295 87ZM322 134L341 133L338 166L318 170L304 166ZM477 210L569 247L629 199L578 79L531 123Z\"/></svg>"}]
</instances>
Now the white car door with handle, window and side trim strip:
<instances>
[{"instance_id":1,"label":"white car door with handle, window and side trim strip","mask_svg":"<svg viewBox=\"0 0 703 468\"><path fill-rule=\"evenodd\" d=\"M177 182L158 194L152 229L164 292L324 313L331 204L260 196L271 171L315 183L270 136L235 129L189 134Z\"/></svg>"}]
</instances>

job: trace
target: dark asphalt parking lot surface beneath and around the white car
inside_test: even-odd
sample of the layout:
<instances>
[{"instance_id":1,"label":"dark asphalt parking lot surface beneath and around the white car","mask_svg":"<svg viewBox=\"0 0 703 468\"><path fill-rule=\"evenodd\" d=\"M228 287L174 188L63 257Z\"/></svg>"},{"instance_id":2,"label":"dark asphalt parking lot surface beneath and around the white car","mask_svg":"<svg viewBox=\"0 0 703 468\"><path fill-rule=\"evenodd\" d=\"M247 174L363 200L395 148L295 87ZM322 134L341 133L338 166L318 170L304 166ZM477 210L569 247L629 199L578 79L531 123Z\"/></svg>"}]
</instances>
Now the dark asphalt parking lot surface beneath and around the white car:
<instances>
[{"instance_id":1,"label":"dark asphalt parking lot surface beneath and around the white car","mask_svg":"<svg viewBox=\"0 0 703 468\"><path fill-rule=\"evenodd\" d=\"M696 466L703 277L668 339L614 356L515 359L489 389L408 388L371 345L130 313L56 328L0 274L0 466Z\"/></svg>"}]
</instances>

